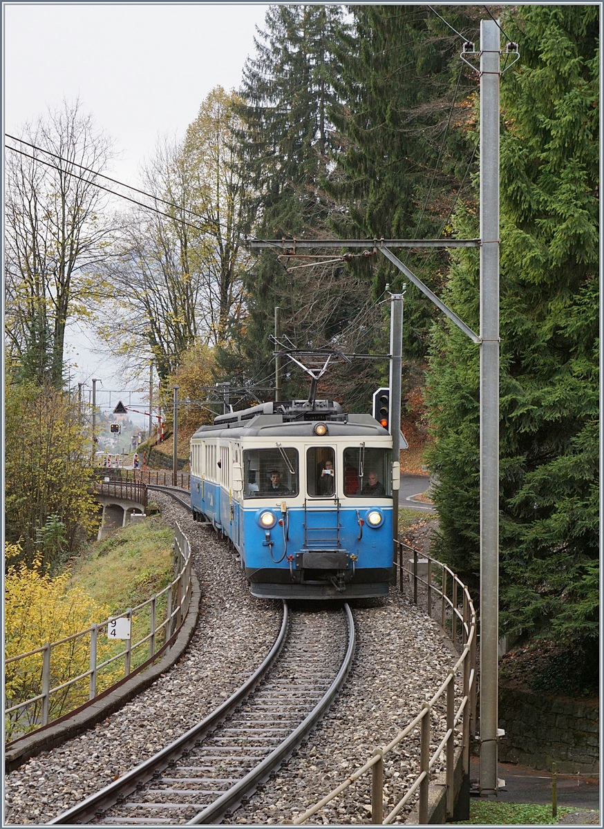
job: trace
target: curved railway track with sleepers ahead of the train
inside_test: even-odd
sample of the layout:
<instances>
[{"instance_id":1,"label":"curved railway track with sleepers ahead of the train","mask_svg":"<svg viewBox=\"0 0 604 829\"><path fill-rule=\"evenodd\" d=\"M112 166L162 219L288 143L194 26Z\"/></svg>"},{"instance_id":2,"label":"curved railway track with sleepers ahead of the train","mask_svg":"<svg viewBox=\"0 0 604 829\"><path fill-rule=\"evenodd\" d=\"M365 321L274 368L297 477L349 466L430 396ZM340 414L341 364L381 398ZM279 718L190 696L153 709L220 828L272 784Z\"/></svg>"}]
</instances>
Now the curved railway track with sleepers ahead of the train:
<instances>
[{"instance_id":1,"label":"curved railway track with sleepers ahead of the train","mask_svg":"<svg viewBox=\"0 0 604 829\"><path fill-rule=\"evenodd\" d=\"M292 612L265 662L205 720L48 826L217 823L289 759L338 696L353 616ZM175 703L176 704L176 703Z\"/></svg>"}]
</instances>

